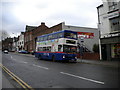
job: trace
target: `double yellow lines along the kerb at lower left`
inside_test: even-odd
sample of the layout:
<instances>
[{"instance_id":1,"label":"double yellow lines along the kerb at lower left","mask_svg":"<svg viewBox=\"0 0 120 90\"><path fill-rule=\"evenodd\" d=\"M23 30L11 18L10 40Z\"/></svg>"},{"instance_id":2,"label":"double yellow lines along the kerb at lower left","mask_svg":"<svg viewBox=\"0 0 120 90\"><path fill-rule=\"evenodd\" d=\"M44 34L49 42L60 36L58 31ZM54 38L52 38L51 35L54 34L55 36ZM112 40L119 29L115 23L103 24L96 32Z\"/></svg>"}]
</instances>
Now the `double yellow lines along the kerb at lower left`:
<instances>
[{"instance_id":1,"label":"double yellow lines along the kerb at lower left","mask_svg":"<svg viewBox=\"0 0 120 90\"><path fill-rule=\"evenodd\" d=\"M3 66L0 63L0 67L8 74L10 75L22 88L25 90L34 90L31 86L29 86L27 83L25 83L23 80L21 80L18 76L16 76L14 73L12 73L10 70L8 70L5 66Z\"/></svg>"}]
</instances>

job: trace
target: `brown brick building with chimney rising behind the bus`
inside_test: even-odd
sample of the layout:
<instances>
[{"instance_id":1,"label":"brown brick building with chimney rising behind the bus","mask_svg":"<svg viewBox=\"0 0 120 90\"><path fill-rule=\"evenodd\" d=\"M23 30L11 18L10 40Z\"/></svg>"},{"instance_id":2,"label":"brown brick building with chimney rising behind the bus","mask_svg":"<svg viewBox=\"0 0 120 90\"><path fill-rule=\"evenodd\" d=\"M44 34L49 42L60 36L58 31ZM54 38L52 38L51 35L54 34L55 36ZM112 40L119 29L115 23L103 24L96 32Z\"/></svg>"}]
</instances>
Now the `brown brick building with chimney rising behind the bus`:
<instances>
[{"instance_id":1,"label":"brown brick building with chimney rising behind the bus","mask_svg":"<svg viewBox=\"0 0 120 90\"><path fill-rule=\"evenodd\" d=\"M35 51L37 36L62 30L62 23L53 27L47 27L44 22L38 27L26 25L24 33L24 48L28 52Z\"/></svg>"}]
</instances>

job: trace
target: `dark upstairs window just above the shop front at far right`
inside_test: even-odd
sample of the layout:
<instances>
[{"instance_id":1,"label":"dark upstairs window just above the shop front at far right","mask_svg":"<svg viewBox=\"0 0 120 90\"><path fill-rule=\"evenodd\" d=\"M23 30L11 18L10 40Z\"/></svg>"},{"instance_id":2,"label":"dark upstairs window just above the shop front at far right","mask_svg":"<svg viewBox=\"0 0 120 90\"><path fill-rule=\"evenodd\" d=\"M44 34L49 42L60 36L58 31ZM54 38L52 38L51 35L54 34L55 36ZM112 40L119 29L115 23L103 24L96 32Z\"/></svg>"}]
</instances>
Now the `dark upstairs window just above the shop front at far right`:
<instances>
[{"instance_id":1,"label":"dark upstairs window just above the shop front at far right","mask_svg":"<svg viewBox=\"0 0 120 90\"><path fill-rule=\"evenodd\" d=\"M114 18L110 20L110 24L111 24L111 31L120 31L120 19L118 18Z\"/></svg>"}]
</instances>

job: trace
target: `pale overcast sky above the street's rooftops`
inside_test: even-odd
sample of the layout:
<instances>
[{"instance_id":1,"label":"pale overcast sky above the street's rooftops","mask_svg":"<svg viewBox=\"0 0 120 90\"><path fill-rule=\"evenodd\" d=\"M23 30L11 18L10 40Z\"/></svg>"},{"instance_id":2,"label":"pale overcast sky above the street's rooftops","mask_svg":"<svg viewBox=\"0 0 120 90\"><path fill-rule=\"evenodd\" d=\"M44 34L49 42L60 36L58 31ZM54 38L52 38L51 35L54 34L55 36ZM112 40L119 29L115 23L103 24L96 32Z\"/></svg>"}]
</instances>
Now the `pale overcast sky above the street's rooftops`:
<instances>
[{"instance_id":1,"label":"pale overcast sky above the street's rooftops","mask_svg":"<svg viewBox=\"0 0 120 90\"><path fill-rule=\"evenodd\" d=\"M26 25L66 25L97 28L97 9L102 0L2 0L2 27L10 35L25 31ZM12 34L14 33L14 34Z\"/></svg>"}]
</instances>

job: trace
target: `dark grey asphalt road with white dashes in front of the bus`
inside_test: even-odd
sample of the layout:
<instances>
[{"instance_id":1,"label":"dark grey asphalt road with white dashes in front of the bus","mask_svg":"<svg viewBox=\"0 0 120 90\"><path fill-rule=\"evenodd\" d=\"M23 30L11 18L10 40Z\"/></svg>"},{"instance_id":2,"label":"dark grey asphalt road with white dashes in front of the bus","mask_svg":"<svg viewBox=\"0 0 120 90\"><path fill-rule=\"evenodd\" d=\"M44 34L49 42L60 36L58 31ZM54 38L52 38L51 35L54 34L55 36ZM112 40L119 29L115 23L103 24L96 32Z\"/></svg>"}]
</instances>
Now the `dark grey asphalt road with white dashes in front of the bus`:
<instances>
[{"instance_id":1,"label":"dark grey asphalt road with white dashes in front of the bus","mask_svg":"<svg viewBox=\"0 0 120 90\"><path fill-rule=\"evenodd\" d=\"M118 69L83 63L38 60L9 53L2 63L33 88L118 88Z\"/></svg>"}]
</instances>

